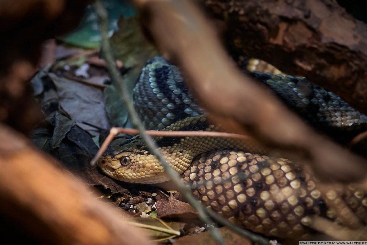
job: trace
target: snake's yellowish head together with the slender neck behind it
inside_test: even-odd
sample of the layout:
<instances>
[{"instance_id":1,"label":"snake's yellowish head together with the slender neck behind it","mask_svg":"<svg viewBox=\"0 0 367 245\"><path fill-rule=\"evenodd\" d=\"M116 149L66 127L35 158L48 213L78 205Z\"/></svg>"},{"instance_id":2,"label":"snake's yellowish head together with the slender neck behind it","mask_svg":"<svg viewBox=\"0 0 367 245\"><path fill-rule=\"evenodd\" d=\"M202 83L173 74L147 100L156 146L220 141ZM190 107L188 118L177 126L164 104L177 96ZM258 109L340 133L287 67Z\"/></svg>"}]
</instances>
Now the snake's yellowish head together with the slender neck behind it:
<instances>
[{"instance_id":1,"label":"snake's yellowish head together with the slender neck behind it","mask_svg":"<svg viewBox=\"0 0 367 245\"><path fill-rule=\"evenodd\" d=\"M161 131L183 130L217 131L217 128L208 124L207 118L201 115L177 121ZM261 152L261 147L257 144L230 138L156 136L154 139L170 167L178 174L185 172L197 155L214 149ZM169 180L161 162L149 152L145 142L139 136L127 140L116 151L100 158L98 165L104 173L126 182L153 184Z\"/></svg>"}]
</instances>

